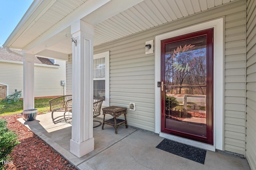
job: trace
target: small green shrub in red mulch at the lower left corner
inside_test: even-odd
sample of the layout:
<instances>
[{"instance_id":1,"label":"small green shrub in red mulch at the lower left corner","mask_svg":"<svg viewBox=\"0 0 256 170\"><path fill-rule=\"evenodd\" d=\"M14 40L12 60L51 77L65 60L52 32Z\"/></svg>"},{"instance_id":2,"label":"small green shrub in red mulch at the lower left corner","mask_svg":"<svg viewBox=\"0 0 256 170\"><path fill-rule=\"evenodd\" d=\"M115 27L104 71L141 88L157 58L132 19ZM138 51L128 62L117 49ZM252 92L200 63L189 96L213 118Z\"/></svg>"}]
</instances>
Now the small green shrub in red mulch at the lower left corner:
<instances>
[{"instance_id":1,"label":"small green shrub in red mulch at the lower left corner","mask_svg":"<svg viewBox=\"0 0 256 170\"><path fill-rule=\"evenodd\" d=\"M20 143L16 133L8 129L6 125L7 121L0 119L0 168L4 166L2 161L8 160L12 149Z\"/></svg>"}]
</instances>

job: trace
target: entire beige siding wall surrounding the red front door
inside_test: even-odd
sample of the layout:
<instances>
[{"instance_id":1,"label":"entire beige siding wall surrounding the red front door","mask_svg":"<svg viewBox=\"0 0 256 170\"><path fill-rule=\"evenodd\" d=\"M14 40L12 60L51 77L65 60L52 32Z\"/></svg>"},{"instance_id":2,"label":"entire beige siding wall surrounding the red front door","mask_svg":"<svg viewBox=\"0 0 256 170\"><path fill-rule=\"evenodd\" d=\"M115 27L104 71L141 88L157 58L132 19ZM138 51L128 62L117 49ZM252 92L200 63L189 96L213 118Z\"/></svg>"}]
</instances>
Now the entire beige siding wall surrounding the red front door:
<instances>
[{"instance_id":1,"label":"entire beige siding wall surrounding the red front door","mask_svg":"<svg viewBox=\"0 0 256 170\"><path fill-rule=\"evenodd\" d=\"M225 21L224 150L244 154L245 9L244 0L235 1L95 46L94 54L110 51L110 106L129 108L130 102L135 103L136 111L128 109L128 124L154 131L155 54L145 55L145 42L154 40L156 35L162 33L223 17Z\"/></svg>"}]
</instances>

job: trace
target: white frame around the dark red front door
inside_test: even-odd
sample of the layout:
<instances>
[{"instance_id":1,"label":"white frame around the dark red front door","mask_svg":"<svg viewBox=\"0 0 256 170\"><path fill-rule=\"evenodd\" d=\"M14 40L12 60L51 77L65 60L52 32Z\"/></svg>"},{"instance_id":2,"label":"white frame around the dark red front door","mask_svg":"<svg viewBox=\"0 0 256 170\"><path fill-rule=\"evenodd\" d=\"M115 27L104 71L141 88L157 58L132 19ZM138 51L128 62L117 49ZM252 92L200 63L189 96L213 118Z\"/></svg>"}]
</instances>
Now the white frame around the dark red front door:
<instances>
[{"instance_id":1,"label":"white frame around the dark red front door","mask_svg":"<svg viewBox=\"0 0 256 170\"><path fill-rule=\"evenodd\" d=\"M212 21L207 21L190 27L164 33L156 36L155 50L155 133L159 133L161 137L172 139L181 143L186 143L195 147L212 150L224 150L224 31L223 18ZM214 145L200 143L190 139L184 139L174 135L169 135L161 132L161 101L160 88L157 87L157 82L160 82L161 68L161 40L192 33L208 28L214 28L214 115L213 115L213 131ZM217 50L218 49L218 50ZM218 63L218 64L216 64ZM218 78L216 77L218 75ZM218 121L216 121L218 120Z\"/></svg>"}]
</instances>

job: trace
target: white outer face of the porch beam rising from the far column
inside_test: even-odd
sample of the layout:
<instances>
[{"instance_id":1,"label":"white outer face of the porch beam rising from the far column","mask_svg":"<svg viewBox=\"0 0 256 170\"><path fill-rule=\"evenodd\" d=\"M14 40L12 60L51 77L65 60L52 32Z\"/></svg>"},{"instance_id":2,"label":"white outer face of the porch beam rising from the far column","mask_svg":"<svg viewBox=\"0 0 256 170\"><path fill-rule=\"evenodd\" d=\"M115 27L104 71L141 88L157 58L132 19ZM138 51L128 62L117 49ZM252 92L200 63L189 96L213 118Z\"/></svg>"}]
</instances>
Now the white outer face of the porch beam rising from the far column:
<instances>
[{"instance_id":1,"label":"white outer face of the porch beam rising from the far column","mask_svg":"<svg viewBox=\"0 0 256 170\"><path fill-rule=\"evenodd\" d=\"M54 26L52 26L50 29L45 31L42 35L31 41L28 45L23 47L23 51L26 51L26 53L32 53L32 49L36 46L42 44L46 40L50 39L54 35L58 34L60 31L64 30L65 28L70 27L72 23L84 18L94 10L100 8L110 0L87 0L79 6L76 10L71 12L68 16L63 18L61 21L56 23ZM68 37L69 38L69 37ZM40 52L40 51L37 51Z\"/></svg>"}]
</instances>

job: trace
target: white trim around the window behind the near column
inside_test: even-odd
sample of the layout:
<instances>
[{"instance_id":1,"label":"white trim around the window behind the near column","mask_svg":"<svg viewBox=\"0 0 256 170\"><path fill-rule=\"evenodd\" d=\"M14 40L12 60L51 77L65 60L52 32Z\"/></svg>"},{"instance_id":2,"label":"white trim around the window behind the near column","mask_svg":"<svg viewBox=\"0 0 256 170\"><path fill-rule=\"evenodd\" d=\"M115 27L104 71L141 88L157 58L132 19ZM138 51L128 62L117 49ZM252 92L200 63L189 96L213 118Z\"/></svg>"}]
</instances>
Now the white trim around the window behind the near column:
<instances>
[{"instance_id":1,"label":"white trim around the window behind the near column","mask_svg":"<svg viewBox=\"0 0 256 170\"><path fill-rule=\"evenodd\" d=\"M109 106L109 51L93 55L93 59L105 57L105 101L102 106ZM102 78L94 78L94 80L104 80Z\"/></svg>"}]
</instances>

